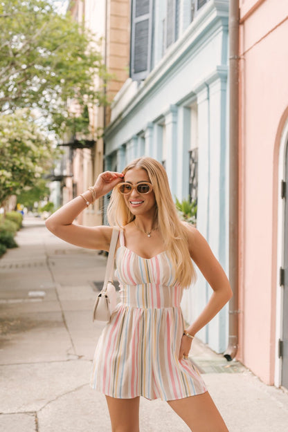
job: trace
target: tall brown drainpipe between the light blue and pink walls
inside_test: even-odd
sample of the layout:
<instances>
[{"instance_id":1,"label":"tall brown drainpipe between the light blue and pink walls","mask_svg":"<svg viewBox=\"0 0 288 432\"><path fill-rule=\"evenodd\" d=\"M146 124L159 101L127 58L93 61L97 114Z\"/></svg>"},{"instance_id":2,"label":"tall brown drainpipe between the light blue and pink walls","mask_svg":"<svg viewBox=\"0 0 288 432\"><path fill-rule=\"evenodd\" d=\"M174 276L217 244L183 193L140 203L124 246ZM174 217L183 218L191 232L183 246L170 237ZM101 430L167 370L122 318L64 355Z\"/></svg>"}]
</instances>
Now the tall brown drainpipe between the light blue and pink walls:
<instances>
[{"instance_id":1,"label":"tall brown drainpipe between the light blue and pink walls","mask_svg":"<svg viewBox=\"0 0 288 432\"><path fill-rule=\"evenodd\" d=\"M239 0L229 1L229 338L224 357L231 361L238 348L238 203L239 203Z\"/></svg>"}]
</instances>

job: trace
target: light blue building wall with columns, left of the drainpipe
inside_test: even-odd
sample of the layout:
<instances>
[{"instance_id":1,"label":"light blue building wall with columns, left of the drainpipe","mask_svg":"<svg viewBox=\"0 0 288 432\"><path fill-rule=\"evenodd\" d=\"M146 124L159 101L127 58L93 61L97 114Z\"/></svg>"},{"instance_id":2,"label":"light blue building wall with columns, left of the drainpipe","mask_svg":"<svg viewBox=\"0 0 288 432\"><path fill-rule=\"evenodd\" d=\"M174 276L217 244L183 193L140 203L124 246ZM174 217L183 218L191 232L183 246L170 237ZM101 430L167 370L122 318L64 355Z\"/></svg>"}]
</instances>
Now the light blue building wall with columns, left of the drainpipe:
<instances>
[{"instance_id":1,"label":"light blue building wall with columns, left of the drainpipe","mask_svg":"<svg viewBox=\"0 0 288 432\"><path fill-rule=\"evenodd\" d=\"M152 156L165 165L172 196L181 200L189 194L190 151L198 149L197 228L227 273L228 0L208 1L192 22L187 19L190 2L179 1L179 37L162 57L159 23L165 2L154 2L154 66L143 81L129 79L116 95L105 131L106 169L121 171L138 156ZM196 285L183 296L189 323L212 292L198 274ZM228 309L198 336L217 352L224 351Z\"/></svg>"}]
</instances>

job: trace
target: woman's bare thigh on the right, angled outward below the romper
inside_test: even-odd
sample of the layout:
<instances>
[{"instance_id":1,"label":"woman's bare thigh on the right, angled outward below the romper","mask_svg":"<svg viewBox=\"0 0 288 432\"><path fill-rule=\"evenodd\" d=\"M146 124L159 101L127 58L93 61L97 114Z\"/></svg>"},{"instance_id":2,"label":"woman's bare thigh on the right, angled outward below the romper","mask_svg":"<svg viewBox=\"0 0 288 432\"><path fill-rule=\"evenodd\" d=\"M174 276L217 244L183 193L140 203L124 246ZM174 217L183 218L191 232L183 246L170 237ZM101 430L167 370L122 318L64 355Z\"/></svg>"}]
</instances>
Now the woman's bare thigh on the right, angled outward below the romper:
<instances>
[{"instance_id":1,"label":"woman's bare thigh on the right, angled outward below the romper","mask_svg":"<svg viewBox=\"0 0 288 432\"><path fill-rule=\"evenodd\" d=\"M170 400L168 404L188 424L192 432L228 432L208 391L201 395Z\"/></svg>"}]
</instances>

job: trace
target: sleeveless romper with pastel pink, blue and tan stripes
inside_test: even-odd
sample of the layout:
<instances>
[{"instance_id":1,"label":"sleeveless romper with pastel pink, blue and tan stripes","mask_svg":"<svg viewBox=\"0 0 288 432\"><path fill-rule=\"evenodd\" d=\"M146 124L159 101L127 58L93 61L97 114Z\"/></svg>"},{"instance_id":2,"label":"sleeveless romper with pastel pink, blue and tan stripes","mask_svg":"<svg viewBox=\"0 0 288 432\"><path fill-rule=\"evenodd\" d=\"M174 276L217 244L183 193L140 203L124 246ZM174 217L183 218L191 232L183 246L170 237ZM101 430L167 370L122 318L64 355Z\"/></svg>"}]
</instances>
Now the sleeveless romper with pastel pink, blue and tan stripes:
<instances>
[{"instance_id":1,"label":"sleeveless romper with pastel pink, blue and tan stripes","mask_svg":"<svg viewBox=\"0 0 288 432\"><path fill-rule=\"evenodd\" d=\"M190 359L179 361L183 288L167 252L144 259L125 247L120 231L116 276L120 303L102 330L91 387L118 398L176 400L206 391Z\"/></svg>"}]
</instances>

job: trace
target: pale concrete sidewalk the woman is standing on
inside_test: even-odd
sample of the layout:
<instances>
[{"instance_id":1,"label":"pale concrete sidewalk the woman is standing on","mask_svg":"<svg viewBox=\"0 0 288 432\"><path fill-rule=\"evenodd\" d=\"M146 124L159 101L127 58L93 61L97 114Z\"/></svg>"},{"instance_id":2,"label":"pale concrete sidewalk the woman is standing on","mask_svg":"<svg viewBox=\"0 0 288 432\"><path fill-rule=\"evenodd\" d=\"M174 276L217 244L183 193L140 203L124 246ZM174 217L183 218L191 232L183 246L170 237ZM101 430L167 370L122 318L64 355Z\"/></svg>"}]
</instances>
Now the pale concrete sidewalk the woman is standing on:
<instances>
[{"instance_id":1,"label":"pale concrete sidewalk the woman is standing on","mask_svg":"<svg viewBox=\"0 0 288 432\"><path fill-rule=\"evenodd\" d=\"M0 431L109 432L105 397L89 388L102 324L91 322L105 256L60 241L26 218L0 259ZM94 287L94 288L93 288ZM288 431L288 394L195 340L190 353L230 432ZM188 432L159 400L141 400L141 432Z\"/></svg>"}]
</instances>

